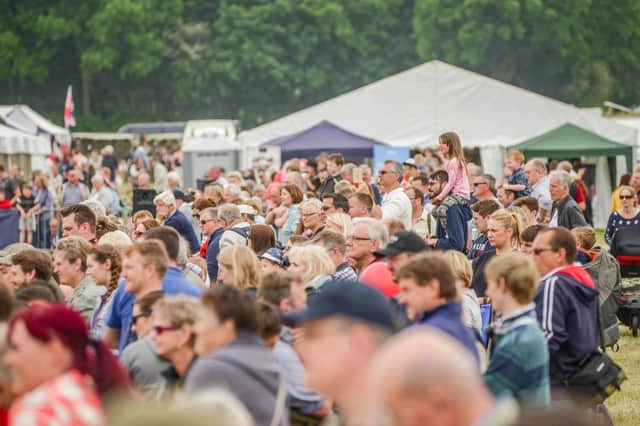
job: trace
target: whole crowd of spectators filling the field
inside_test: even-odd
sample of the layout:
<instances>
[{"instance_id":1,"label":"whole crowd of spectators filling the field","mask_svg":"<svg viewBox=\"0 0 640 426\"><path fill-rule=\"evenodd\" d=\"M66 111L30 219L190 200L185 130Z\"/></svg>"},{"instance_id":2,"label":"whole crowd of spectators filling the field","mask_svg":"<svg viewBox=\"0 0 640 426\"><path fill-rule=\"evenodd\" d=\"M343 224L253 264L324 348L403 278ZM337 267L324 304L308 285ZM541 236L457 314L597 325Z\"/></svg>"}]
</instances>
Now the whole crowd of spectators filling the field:
<instances>
[{"instance_id":1,"label":"whole crowd of spectators filling the field","mask_svg":"<svg viewBox=\"0 0 640 426\"><path fill-rule=\"evenodd\" d=\"M201 189L145 146L0 166L21 239L0 251L5 421L106 424L114 394L193 424L606 419L574 380L604 345L588 264L608 256L583 171L513 151L494 177L438 142L375 174L212 165ZM607 241L638 225L640 169L623 179ZM126 181L153 208L128 214Z\"/></svg>"}]
</instances>

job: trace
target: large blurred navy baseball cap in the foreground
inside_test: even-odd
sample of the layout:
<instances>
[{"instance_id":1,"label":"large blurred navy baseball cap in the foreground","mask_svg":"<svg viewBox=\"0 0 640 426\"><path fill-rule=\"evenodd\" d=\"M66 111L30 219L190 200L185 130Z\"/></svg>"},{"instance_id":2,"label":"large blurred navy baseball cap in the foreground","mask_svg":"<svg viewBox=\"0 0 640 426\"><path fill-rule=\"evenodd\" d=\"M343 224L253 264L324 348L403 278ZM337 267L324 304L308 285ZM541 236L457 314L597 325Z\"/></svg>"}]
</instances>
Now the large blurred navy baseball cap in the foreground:
<instances>
[{"instance_id":1,"label":"large blurred navy baseball cap in the foreground","mask_svg":"<svg viewBox=\"0 0 640 426\"><path fill-rule=\"evenodd\" d=\"M307 308L282 315L287 324L343 316L395 330L389 301L375 288L355 281L331 281L307 299Z\"/></svg>"}]
</instances>

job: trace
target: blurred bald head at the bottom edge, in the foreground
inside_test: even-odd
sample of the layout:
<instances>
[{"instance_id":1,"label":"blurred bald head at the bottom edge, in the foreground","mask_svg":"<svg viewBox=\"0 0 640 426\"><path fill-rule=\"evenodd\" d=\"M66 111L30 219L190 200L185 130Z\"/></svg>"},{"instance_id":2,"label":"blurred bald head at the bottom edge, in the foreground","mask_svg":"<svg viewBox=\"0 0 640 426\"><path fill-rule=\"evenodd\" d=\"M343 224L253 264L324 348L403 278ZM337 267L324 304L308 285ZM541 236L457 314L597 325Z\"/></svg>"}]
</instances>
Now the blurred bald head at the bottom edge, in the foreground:
<instances>
[{"instance_id":1,"label":"blurred bald head at the bottom edge, in the foreground","mask_svg":"<svg viewBox=\"0 0 640 426\"><path fill-rule=\"evenodd\" d=\"M398 426L469 425L493 403L469 351L435 329L389 340L373 361L371 380L373 398Z\"/></svg>"}]
</instances>

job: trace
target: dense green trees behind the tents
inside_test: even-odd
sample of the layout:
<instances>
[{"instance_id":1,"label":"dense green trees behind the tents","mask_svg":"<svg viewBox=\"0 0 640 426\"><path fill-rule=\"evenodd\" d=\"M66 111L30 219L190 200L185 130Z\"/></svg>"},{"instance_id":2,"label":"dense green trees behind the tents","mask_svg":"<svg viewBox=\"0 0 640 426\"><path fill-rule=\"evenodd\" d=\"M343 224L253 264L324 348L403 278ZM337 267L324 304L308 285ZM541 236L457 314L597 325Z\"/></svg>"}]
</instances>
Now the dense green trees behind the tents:
<instances>
[{"instance_id":1,"label":"dense green trees behind the tents","mask_svg":"<svg viewBox=\"0 0 640 426\"><path fill-rule=\"evenodd\" d=\"M0 0L0 103L78 130L245 128L441 59L581 105L640 95L640 2Z\"/></svg>"}]
</instances>

